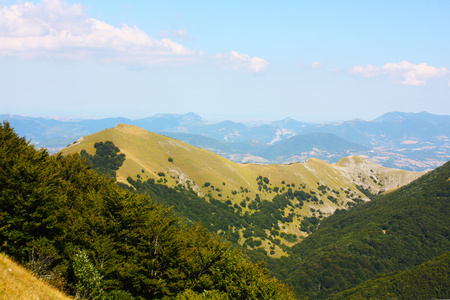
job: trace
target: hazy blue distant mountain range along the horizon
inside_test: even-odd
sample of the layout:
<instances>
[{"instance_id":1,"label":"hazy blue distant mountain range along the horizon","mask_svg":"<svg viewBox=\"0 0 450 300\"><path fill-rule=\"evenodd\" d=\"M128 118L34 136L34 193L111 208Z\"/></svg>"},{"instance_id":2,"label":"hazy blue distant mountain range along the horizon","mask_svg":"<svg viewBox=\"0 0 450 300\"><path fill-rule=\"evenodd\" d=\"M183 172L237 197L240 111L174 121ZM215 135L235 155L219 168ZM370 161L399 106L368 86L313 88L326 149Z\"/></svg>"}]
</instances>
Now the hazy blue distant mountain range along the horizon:
<instances>
[{"instance_id":1,"label":"hazy blue distant mountain range along the horizon","mask_svg":"<svg viewBox=\"0 0 450 300\"><path fill-rule=\"evenodd\" d=\"M50 152L123 123L244 163L291 163L312 157L334 163L344 156L358 155L385 167L423 171L450 159L450 116L426 112L390 112L373 121L323 124L289 118L260 125L211 123L194 113L81 121L5 114L0 120L8 120L20 135Z\"/></svg>"}]
</instances>

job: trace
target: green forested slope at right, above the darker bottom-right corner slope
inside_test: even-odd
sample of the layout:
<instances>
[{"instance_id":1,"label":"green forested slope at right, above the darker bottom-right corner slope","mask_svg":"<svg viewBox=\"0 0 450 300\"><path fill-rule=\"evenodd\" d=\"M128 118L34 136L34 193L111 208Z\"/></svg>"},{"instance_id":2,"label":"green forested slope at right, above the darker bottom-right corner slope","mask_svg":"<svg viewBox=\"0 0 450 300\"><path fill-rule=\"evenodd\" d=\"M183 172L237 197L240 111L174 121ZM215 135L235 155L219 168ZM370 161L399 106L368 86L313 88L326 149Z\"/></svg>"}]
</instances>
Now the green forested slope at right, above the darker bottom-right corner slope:
<instances>
[{"instance_id":1,"label":"green forested slope at right, above the darker bottom-right corner slope","mask_svg":"<svg viewBox=\"0 0 450 300\"><path fill-rule=\"evenodd\" d=\"M449 216L450 162L394 192L337 211L292 247L279 274L301 298L328 298L449 251Z\"/></svg>"}]
</instances>

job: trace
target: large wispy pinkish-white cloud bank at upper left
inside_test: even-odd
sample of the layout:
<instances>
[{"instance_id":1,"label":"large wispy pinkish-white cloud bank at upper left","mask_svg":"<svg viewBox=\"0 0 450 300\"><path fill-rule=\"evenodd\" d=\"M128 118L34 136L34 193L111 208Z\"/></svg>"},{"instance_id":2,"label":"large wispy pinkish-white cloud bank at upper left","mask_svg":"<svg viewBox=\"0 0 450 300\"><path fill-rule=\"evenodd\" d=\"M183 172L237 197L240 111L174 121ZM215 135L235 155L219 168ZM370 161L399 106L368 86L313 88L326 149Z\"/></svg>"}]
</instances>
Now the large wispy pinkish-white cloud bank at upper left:
<instances>
[{"instance_id":1,"label":"large wispy pinkish-white cloud bank at upper left","mask_svg":"<svg viewBox=\"0 0 450 300\"><path fill-rule=\"evenodd\" d=\"M167 37L175 35L188 37L186 29L166 32ZM87 16L81 4L42 0L38 4L18 2L0 6L0 57L94 59L150 66L216 61L220 55L227 56L194 51L169 38L155 39L136 26L114 27ZM232 60L231 65L225 61L222 65L236 70L263 70L258 63L262 59L250 60L252 63L241 68Z\"/></svg>"}]
</instances>

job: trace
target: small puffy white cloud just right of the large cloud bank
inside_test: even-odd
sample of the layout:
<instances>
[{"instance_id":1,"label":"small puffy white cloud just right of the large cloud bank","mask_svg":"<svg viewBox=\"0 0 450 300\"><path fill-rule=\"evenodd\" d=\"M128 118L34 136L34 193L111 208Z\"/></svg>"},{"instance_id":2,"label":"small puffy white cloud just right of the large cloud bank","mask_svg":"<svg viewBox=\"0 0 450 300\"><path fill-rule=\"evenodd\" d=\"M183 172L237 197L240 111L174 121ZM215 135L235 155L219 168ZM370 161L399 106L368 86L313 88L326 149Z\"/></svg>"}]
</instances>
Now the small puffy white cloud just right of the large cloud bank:
<instances>
[{"instance_id":1,"label":"small puffy white cloud just right of the large cloud bank","mask_svg":"<svg viewBox=\"0 0 450 300\"><path fill-rule=\"evenodd\" d=\"M258 73L263 72L269 66L269 63L259 57L250 57L247 54L237 53L231 51L231 53L217 54L215 59L218 64L224 66L227 69L232 70L246 70L247 72Z\"/></svg>"}]
</instances>

